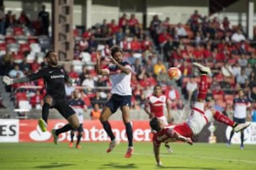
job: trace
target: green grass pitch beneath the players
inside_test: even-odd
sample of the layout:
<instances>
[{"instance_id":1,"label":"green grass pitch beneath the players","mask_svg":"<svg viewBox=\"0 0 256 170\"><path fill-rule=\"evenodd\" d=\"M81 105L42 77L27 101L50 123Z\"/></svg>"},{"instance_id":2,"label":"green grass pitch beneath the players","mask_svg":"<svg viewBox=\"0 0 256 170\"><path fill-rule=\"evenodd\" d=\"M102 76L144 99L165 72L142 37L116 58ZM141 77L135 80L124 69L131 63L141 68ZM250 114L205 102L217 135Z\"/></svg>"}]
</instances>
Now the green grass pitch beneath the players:
<instances>
[{"instance_id":1,"label":"green grass pitch beneath the players","mask_svg":"<svg viewBox=\"0 0 256 170\"><path fill-rule=\"evenodd\" d=\"M106 153L107 142L82 142L82 149L68 143L0 143L0 169L256 169L256 145L171 143L173 153L161 146L162 167L157 167L151 142L136 142L134 155L124 158L127 143Z\"/></svg>"}]
</instances>

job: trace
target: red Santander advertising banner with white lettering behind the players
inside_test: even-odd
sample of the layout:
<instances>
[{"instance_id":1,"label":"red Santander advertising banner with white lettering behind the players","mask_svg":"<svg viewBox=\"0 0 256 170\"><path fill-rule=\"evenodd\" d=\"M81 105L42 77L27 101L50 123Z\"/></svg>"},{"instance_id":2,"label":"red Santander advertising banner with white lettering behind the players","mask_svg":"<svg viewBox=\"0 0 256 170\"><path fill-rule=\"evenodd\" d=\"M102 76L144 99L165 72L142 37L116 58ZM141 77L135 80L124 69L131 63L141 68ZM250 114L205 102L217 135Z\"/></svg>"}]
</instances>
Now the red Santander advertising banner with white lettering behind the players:
<instances>
[{"instance_id":1,"label":"red Santander advertising banner with white lettering behind the players","mask_svg":"<svg viewBox=\"0 0 256 170\"><path fill-rule=\"evenodd\" d=\"M53 142L50 134L51 129L61 128L67 123L66 120L49 120L48 131L42 132L38 127L38 120L20 120L19 142ZM121 141L127 141L125 126L122 121L111 120L110 125L115 137ZM149 121L134 120L132 121L134 142L151 141L151 129ZM83 123L84 134L81 141L85 142L102 142L109 141L107 133L102 128L100 120L85 120ZM76 138L74 138L76 140ZM59 135L60 142L70 141L70 131Z\"/></svg>"}]
</instances>

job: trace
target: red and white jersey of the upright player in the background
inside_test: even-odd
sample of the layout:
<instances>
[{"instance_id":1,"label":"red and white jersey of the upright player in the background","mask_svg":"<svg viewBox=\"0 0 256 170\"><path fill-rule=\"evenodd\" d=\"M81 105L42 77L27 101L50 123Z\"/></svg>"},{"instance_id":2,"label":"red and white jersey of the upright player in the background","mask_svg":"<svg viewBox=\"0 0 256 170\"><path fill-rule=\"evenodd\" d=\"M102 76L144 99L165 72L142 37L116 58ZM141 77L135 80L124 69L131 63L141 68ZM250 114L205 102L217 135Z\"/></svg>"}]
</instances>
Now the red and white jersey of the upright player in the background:
<instances>
[{"instance_id":1,"label":"red and white jersey of the upright player in the background","mask_svg":"<svg viewBox=\"0 0 256 170\"><path fill-rule=\"evenodd\" d=\"M166 106L166 102L168 99L164 94L160 96L154 96L151 94L146 98L145 105L150 108L150 112L154 113L156 118L159 118L164 115L164 106Z\"/></svg>"}]
</instances>

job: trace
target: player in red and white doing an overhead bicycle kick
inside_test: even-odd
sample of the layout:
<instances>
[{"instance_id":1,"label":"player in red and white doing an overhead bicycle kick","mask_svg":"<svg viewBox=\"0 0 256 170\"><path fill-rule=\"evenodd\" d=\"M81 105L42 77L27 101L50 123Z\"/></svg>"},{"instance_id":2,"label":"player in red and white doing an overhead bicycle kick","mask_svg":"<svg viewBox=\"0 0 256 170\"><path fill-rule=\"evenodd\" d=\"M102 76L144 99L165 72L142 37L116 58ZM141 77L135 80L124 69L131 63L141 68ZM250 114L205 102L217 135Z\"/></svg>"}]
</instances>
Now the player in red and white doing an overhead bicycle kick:
<instances>
[{"instance_id":1,"label":"player in red and white doing an overhead bicycle kick","mask_svg":"<svg viewBox=\"0 0 256 170\"><path fill-rule=\"evenodd\" d=\"M197 67L201 72L201 81L199 83L199 93L197 96L197 100L194 106L191 108L191 113L188 116L188 120L186 122L175 125L174 128L164 128L164 123L161 119L153 118L150 121L150 126L152 129L157 132L153 137L153 145L154 145L154 156L156 159L156 164L161 166L160 158L159 158L159 147L161 142L171 142L175 140L181 140L183 142L188 142L188 144L192 144L191 139L189 137L193 137L193 135L198 135L199 132L203 129L203 126L206 125L209 121L214 118L220 123L225 123L226 125L230 125L233 127L235 132L243 130L247 128L250 123L235 123L233 120L230 120L227 116L221 114L218 111L215 111L213 108L208 109L207 111L203 111L204 108L204 99L207 94L207 74L210 73L210 68L204 67L201 64L193 62L193 66Z\"/></svg>"}]
</instances>

